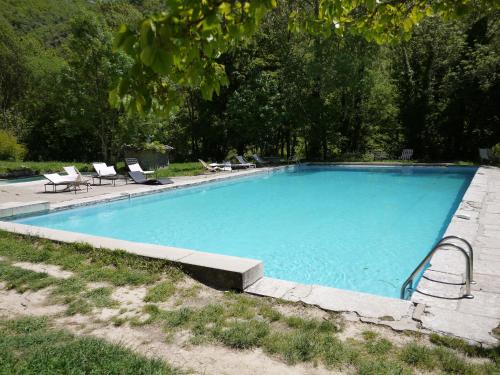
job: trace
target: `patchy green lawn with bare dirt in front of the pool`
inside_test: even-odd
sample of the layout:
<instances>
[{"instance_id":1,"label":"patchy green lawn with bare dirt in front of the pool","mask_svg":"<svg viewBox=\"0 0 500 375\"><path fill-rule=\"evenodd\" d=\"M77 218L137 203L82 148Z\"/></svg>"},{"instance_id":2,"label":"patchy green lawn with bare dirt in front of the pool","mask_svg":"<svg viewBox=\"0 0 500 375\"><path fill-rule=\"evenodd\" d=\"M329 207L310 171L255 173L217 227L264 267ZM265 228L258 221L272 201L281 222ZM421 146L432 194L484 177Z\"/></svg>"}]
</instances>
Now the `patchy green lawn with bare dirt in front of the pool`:
<instances>
[{"instance_id":1,"label":"patchy green lawn with bare dirt in front of the pool","mask_svg":"<svg viewBox=\"0 0 500 375\"><path fill-rule=\"evenodd\" d=\"M160 337L154 347L174 346L193 356L211 348L235 352L243 361L247 351L258 348L262 361L273 358L289 366L320 366L342 373L479 375L500 371L499 347L482 349L439 335L394 333L300 303L217 291L166 261L1 231L0 257L4 291L45 293L47 305L63 307L50 317L0 323L0 373L11 373L2 370L14 366L20 366L16 368L23 373L39 374L64 366L79 373L175 373L164 363L104 341L87 336L77 339L54 330L53 322L59 322L58 326L63 322L68 328L83 325L82 331L90 335L96 324L101 335L122 328L129 334L147 329L156 332L148 337ZM69 272L70 277L23 268L26 262L51 265ZM127 297L121 300L124 290ZM76 320L71 323L71 319ZM358 333L346 334L354 331ZM219 361L224 368L226 357L207 362ZM189 361L185 366L182 370L189 370Z\"/></svg>"}]
</instances>

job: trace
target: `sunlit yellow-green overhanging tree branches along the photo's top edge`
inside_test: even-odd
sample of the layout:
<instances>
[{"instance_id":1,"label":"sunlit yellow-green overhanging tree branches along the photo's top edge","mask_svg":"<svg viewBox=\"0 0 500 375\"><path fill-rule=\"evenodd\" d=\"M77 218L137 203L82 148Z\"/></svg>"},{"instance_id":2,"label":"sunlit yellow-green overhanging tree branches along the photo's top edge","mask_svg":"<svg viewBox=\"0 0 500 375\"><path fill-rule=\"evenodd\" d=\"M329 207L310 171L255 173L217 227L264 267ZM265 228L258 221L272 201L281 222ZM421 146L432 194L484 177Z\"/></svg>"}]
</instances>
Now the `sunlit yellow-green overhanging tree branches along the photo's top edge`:
<instances>
[{"instance_id":1,"label":"sunlit yellow-green overhanging tree branches along the photo's top edge","mask_svg":"<svg viewBox=\"0 0 500 375\"><path fill-rule=\"evenodd\" d=\"M423 18L459 17L480 8L498 9L495 0L313 0L294 2L290 29L319 36L346 31L379 43L409 38ZM303 4L306 4L305 8ZM307 4L312 4L311 6ZM218 62L222 53L248 41L262 17L275 8L275 0L169 0L162 12L139 26L123 25L115 48L134 61L110 93L114 106L140 113L168 113L182 99L179 87L198 88L203 98L219 94L228 79Z\"/></svg>"}]
</instances>

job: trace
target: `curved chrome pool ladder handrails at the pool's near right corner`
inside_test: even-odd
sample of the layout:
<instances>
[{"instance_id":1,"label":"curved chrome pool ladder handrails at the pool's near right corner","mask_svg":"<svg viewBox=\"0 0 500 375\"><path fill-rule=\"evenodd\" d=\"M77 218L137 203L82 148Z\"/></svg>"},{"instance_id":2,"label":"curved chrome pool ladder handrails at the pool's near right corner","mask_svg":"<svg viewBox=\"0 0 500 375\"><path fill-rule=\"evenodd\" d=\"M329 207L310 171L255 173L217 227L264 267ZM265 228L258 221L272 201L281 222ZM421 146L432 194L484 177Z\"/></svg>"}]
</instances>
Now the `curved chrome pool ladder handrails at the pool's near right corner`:
<instances>
[{"instance_id":1,"label":"curved chrome pool ladder handrails at the pool's near right corner","mask_svg":"<svg viewBox=\"0 0 500 375\"><path fill-rule=\"evenodd\" d=\"M458 240L465 244L468 252L464 250L463 245L459 246L450 242L449 240ZM429 263L430 259L434 255L436 251L443 247L452 247L455 250L458 250L465 258L465 294L462 296L463 298L474 298L470 291L470 285L474 284L473 281L473 272L474 272L474 251L472 250L472 246L469 241L463 239L458 236L446 236L443 237L433 248L427 256L419 263L419 265L415 268L415 270L411 273L410 277L406 279L406 281L401 286L401 299L407 299L407 297L411 296L411 293L414 291L413 289L413 280L415 277L424 269L424 267Z\"/></svg>"}]
</instances>

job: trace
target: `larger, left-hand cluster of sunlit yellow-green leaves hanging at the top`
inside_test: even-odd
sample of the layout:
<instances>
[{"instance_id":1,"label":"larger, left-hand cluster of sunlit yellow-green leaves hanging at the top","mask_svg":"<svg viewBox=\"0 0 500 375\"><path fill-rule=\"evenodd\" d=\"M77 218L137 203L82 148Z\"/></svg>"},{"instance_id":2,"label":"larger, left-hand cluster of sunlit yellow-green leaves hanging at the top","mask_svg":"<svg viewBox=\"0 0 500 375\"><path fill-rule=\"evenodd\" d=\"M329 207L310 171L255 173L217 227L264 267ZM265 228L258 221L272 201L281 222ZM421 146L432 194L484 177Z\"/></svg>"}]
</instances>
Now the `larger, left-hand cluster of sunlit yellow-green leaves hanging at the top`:
<instances>
[{"instance_id":1,"label":"larger, left-hand cluster of sunlit yellow-green leaves hanging at the top","mask_svg":"<svg viewBox=\"0 0 500 375\"><path fill-rule=\"evenodd\" d=\"M219 94L228 82L216 59L248 39L275 5L274 0L169 1L164 12L123 25L114 46L134 65L111 91L110 102L139 113L168 114L180 104L179 86L199 88L204 99Z\"/></svg>"}]
</instances>

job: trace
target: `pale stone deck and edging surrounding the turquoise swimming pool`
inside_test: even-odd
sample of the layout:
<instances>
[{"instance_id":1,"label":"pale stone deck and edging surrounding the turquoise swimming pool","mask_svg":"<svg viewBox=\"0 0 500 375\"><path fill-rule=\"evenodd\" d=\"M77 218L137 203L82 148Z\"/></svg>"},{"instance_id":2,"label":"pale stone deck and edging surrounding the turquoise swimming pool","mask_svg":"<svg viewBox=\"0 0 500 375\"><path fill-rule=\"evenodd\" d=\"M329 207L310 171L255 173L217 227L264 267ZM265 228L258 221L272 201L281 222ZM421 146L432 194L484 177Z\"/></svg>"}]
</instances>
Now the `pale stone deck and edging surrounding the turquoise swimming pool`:
<instances>
[{"instance_id":1,"label":"pale stone deck and edging surrounding the turquoise swimming pool","mask_svg":"<svg viewBox=\"0 0 500 375\"><path fill-rule=\"evenodd\" d=\"M267 173L260 168L229 173L173 178L173 185L120 184L94 186L89 192L43 193L43 182L0 186L0 217L30 211L61 210L81 205L128 199L179 187L233 177ZM348 319L385 324L396 330L440 332L484 345L495 345L500 335L500 169L481 167L453 216L446 235L469 240L474 247L473 299L463 299L465 263L451 248L439 250L411 301L302 285L263 277L262 262L189 249L148 245L104 237L63 232L0 221L0 229L63 242L87 242L96 247L123 249L138 255L167 259L217 287L301 301L342 312Z\"/></svg>"}]
</instances>

